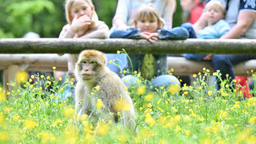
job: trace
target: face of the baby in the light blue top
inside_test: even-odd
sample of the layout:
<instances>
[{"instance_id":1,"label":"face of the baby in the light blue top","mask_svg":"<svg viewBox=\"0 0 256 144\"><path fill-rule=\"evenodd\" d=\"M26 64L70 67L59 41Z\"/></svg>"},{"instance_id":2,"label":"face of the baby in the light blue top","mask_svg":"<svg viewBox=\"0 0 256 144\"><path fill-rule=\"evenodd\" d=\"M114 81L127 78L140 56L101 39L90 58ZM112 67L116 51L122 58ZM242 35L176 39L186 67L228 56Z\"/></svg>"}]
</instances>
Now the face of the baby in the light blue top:
<instances>
[{"instance_id":1,"label":"face of the baby in the light blue top","mask_svg":"<svg viewBox=\"0 0 256 144\"><path fill-rule=\"evenodd\" d=\"M206 20L208 25L214 25L216 22L224 18L224 14L222 14L222 10L216 7L210 7L206 10Z\"/></svg>"}]
</instances>

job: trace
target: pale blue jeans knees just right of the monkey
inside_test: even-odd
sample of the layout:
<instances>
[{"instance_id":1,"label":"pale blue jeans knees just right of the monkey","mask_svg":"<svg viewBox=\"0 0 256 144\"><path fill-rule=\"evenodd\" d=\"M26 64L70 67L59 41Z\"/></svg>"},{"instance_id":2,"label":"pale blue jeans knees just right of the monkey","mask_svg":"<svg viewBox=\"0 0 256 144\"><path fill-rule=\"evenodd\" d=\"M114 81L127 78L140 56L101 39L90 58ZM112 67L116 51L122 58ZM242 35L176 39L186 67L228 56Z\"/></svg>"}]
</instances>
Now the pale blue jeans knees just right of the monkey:
<instances>
[{"instance_id":1,"label":"pale blue jeans knees just right of the monkey","mask_svg":"<svg viewBox=\"0 0 256 144\"><path fill-rule=\"evenodd\" d=\"M138 82L138 78L134 75L126 75L122 78L122 82L124 82L126 86L134 86L136 82ZM163 74L152 79L150 83L148 83L148 87L153 86L154 88L158 88L160 86L164 86L165 88L167 88L172 84L181 86L178 78L176 78L174 75Z\"/></svg>"}]
</instances>

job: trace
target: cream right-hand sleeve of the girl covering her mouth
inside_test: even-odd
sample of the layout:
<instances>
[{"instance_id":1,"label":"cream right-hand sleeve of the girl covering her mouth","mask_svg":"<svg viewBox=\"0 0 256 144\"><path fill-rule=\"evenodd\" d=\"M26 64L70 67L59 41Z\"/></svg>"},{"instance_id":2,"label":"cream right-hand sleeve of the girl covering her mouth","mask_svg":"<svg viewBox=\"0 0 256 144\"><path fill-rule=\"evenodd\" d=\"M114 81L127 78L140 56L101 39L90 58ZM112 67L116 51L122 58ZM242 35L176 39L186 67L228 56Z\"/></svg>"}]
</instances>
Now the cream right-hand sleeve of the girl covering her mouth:
<instances>
[{"instance_id":1,"label":"cream right-hand sleeve of the girl covering her mouth","mask_svg":"<svg viewBox=\"0 0 256 144\"><path fill-rule=\"evenodd\" d=\"M105 22L100 21L97 27L80 38L108 38L109 35L109 27L106 26Z\"/></svg>"}]
</instances>

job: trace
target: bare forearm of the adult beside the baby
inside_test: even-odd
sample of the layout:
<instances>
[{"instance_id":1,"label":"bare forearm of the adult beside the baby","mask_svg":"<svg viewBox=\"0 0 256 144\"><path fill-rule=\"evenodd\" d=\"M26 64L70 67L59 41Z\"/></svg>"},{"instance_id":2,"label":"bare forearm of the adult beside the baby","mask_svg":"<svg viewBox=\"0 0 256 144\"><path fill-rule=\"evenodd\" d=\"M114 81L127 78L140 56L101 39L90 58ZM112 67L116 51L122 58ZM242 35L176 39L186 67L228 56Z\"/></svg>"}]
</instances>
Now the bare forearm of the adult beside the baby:
<instances>
[{"instance_id":1,"label":"bare forearm of the adult beside the baby","mask_svg":"<svg viewBox=\"0 0 256 144\"><path fill-rule=\"evenodd\" d=\"M238 14L238 22L235 24L229 32L224 34L221 38L239 38L242 34L244 34L250 24L253 22L256 13L253 11L240 11Z\"/></svg>"}]
</instances>

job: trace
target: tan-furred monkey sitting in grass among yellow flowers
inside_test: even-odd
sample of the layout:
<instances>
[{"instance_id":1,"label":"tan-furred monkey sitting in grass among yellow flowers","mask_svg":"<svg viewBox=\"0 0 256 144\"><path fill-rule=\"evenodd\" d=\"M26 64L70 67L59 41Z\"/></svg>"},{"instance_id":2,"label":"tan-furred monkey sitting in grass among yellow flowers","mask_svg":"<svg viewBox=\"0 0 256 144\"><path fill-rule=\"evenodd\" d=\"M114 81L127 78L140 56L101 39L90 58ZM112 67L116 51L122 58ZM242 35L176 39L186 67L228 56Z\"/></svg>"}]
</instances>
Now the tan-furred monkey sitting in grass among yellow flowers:
<instances>
[{"instance_id":1,"label":"tan-furred monkey sitting in grass among yellow flowers","mask_svg":"<svg viewBox=\"0 0 256 144\"><path fill-rule=\"evenodd\" d=\"M105 54L98 50L83 50L78 56L74 75L77 80L74 96L78 117L87 114L121 122L130 130L135 130L134 104L121 78L108 68ZM95 90L96 86L99 90ZM95 114L98 99L103 102L101 114ZM129 109L117 108L117 102L121 105L125 103Z\"/></svg>"}]
</instances>

